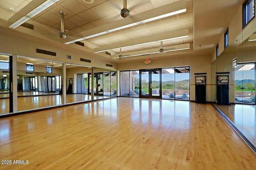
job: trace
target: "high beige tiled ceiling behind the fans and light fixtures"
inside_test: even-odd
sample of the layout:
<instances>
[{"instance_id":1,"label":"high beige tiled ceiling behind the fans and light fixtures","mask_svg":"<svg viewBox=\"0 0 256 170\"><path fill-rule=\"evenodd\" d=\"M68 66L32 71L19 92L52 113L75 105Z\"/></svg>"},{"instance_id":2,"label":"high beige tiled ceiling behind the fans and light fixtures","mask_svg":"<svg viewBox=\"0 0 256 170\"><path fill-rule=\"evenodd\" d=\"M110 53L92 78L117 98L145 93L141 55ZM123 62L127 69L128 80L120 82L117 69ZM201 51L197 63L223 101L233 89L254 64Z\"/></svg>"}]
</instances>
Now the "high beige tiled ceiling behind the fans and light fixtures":
<instances>
[{"instance_id":1,"label":"high beige tiled ceiling behind the fans and light fixtures","mask_svg":"<svg viewBox=\"0 0 256 170\"><path fill-rule=\"evenodd\" d=\"M14 8L15 15L19 10L24 8L32 0L0 0L0 10ZM127 0L127 8L130 11L128 18L136 18L143 12L149 10L158 10L168 4L175 4L179 0ZM120 53L119 49L109 50L111 55L105 52L96 53L113 62L122 63L135 61L146 57L166 58L177 55L209 55L216 47L222 34L224 34L228 24L236 14L238 8L242 4L242 0L186 0L186 12L176 14L153 22L140 24L124 30L108 33L95 38L82 40L85 43L84 50L94 53L96 47L119 47L124 43L135 43L142 39L157 37L163 34L172 35L177 31L186 30L188 37L163 42L163 48L178 47L182 44L190 44L190 49L180 51L170 51L164 54L150 54L148 56L134 56L122 59L113 59ZM94 0L92 4L86 4L83 0L60 0L56 4L50 6L43 12L34 16L32 24L43 24L47 28L46 31L34 30L30 33L32 36L38 36L46 40L63 43L59 40L58 32L61 30L60 11L64 11L64 28L68 30L68 38L80 37L84 32L90 32L97 28L104 28L109 24L117 22L125 22L127 19L122 18L120 11L123 8L123 0ZM10 15L11 16L11 15ZM6 20L10 18L6 16ZM32 21L33 20L33 21ZM53 31L49 31L53 30ZM88 31L89 30L89 31ZM37 34L36 34L37 33ZM75 39L72 40L75 40ZM176 46L175 46L176 45ZM147 51L160 49L160 42L150 43L147 45L138 45L134 47L122 48L122 54L142 54ZM95 54L95 53L94 53Z\"/></svg>"}]
</instances>

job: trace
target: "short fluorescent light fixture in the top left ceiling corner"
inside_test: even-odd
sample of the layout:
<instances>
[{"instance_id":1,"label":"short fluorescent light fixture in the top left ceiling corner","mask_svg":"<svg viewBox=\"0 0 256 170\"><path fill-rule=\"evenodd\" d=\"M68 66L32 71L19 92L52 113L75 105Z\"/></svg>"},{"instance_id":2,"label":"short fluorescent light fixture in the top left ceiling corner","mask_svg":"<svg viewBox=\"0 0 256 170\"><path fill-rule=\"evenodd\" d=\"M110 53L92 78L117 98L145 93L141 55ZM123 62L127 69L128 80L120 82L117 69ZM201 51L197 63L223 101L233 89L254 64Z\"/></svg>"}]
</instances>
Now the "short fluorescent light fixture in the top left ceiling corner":
<instances>
[{"instance_id":1,"label":"short fluorescent light fixture in the top left ceiling corner","mask_svg":"<svg viewBox=\"0 0 256 170\"><path fill-rule=\"evenodd\" d=\"M12 16L9 22L9 28L17 28L30 18L39 14L49 6L52 6L59 0L33 0L27 6L18 11L14 16ZM18 18L17 18L18 16Z\"/></svg>"}]
</instances>

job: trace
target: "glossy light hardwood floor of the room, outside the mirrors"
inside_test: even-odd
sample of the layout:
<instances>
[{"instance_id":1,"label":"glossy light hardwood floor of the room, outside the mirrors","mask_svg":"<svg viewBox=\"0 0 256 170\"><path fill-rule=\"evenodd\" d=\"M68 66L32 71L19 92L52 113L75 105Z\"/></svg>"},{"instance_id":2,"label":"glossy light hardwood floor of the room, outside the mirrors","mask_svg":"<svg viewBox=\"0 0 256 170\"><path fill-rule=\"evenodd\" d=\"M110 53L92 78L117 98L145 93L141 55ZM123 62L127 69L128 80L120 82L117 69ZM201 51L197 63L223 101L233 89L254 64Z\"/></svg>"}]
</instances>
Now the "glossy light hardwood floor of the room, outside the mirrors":
<instances>
[{"instance_id":1,"label":"glossy light hardwood floor of the room, outside the mirrors","mask_svg":"<svg viewBox=\"0 0 256 170\"><path fill-rule=\"evenodd\" d=\"M0 119L0 169L255 169L211 104L118 97Z\"/></svg>"}]
</instances>

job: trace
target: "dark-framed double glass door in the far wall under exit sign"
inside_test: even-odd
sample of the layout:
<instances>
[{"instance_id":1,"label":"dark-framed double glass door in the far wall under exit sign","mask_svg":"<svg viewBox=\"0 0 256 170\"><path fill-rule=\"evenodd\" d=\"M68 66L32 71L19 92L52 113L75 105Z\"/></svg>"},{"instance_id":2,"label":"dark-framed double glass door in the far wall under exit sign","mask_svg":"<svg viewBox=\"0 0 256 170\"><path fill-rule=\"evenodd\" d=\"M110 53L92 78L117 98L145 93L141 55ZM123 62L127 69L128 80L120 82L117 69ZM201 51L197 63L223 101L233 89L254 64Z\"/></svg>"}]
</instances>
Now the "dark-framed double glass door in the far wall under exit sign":
<instances>
[{"instance_id":1,"label":"dark-framed double glass door in the far wall under exit sign","mask_svg":"<svg viewBox=\"0 0 256 170\"><path fill-rule=\"evenodd\" d=\"M140 97L162 98L161 69L140 71Z\"/></svg>"}]
</instances>

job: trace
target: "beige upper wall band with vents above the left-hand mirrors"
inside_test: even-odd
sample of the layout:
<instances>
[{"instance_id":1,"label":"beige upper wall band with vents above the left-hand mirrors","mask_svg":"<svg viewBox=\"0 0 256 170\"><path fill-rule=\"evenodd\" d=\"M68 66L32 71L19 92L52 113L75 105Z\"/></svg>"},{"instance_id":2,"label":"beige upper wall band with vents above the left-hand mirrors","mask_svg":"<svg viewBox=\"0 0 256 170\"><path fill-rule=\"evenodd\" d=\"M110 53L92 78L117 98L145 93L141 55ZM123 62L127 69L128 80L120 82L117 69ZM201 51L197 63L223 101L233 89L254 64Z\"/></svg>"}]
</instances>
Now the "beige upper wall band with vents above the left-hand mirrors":
<instances>
[{"instance_id":1,"label":"beige upper wall band with vents above the left-hand mirrors","mask_svg":"<svg viewBox=\"0 0 256 170\"><path fill-rule=\"evenodd\" d=\"M58 45L62 46L64 44L58 44ZM57 56L55 57L51 55L36 53L36 48L43 49L46 51L56 52ZM55 46L42 45L39 43L24 41L18 38L11 38L4 35L1 35L0 52L8 53L8 54L16 54L16 55L26 56L26 57L34 57L38 59L44 59L47 61L72 63L72 64L83 65L88 67L99 67L99 68L112 69L112 70L115 70L116 68L115 63L106 61L102 59L102 57L86 56L84 55L84 52L81 50L76 50L76 51L69 50L68 47L67 47L67 50L63 50ZM67 59L66 57L67 55L72 55L72 59ZM91 63L80 61L80 58L90 59ZM113 65L113 67L107 67L106 64Z\"/></svg>"}]
</instances>

